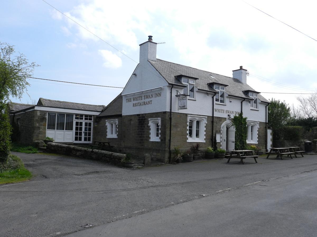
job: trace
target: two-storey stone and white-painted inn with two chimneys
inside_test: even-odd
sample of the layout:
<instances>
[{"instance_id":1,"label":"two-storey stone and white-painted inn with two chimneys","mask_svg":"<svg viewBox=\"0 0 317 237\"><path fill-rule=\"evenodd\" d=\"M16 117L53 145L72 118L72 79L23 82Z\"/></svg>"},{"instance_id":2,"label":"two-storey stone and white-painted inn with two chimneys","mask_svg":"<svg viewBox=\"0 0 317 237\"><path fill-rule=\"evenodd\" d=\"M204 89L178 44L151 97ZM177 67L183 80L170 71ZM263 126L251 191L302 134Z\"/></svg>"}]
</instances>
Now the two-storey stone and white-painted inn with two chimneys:
<instances>
[{"instance_id":1,"label":"two-storey stone and white-painted inn with two chimneys","mask_svg":"<svg viewBox=\"0 0 317 237\"><path fill-rule=\"evenodd\" d=\"M269 101L247 84L246 69L223 76L158 59L156 48L152 36L140 44L139 64L125 88L97 116L96 140L168 163L173 146L233 150L231 118L243 112L247 143L267 149Z\"/></svg>"}]
</instances>

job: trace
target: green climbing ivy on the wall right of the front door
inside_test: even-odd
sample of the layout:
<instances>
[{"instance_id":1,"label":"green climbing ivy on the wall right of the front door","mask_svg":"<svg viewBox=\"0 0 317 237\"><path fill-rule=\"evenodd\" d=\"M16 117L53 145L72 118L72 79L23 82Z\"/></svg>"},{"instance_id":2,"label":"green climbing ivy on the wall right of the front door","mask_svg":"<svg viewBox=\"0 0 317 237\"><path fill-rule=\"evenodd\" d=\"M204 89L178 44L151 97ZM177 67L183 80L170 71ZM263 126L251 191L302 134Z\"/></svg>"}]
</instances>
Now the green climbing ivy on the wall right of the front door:
<instances>
[{"instance_id":1,"label":"green climbing ivy on the wall right of the front door","mask_svg":"<svg viewBox=\"0 0 317 237\"><path fill-rule=\"evenodd\" d=\"M232 123L236 126L235 149L243 150L247 146L247 118L243 118L243 113L239 113L233 117Z\"/></svg>"}]
</instances>

